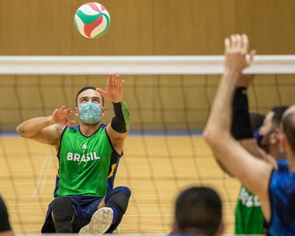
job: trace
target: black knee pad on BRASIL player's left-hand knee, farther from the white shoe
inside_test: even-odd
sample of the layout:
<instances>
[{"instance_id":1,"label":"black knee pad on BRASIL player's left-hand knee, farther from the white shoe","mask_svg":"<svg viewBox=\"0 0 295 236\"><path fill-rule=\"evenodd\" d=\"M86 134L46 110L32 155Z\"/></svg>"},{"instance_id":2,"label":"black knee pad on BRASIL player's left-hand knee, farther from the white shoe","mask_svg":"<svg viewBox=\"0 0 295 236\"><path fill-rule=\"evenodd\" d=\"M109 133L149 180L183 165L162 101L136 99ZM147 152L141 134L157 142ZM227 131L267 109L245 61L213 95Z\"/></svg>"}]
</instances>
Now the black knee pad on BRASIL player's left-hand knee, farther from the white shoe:
<instances>
[{"instance_id":1,"label":"black knee pad on BRASIL player's left-hand knee, farther from the white shoe","mask_svg":"<svg viewBox=\"0 0 295 236\"><path fill-rule=\"evenodd\" d=\"M74 207L68 198L62 197L55 200L52 206L52 216L56 233L72 233L73 215Z\"/></svg>"}]
</instances>

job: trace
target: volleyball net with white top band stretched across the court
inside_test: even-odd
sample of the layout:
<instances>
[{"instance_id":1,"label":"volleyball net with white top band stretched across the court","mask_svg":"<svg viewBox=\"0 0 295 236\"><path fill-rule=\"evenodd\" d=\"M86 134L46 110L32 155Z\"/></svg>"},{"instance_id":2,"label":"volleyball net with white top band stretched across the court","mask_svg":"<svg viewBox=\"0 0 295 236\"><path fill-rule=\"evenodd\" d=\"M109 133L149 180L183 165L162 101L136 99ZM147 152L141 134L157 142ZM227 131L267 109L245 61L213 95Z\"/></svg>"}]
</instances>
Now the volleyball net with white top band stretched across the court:
<instances>
[{"instance_id":1,"label":"volleyball net with white top band stretched across the court","mask_svg":"<svg viewBox=\"0 0 295 236\"><path fill-rule=\"evenodd\" d=\"M204 144L206 123L223 72L223 56L0 56L0 193L16 234L39 234L58 169L50 146L16 136L21 122L75 107L84 86L105 88L109 72L125 80L130 135L116 186L132 191L121 234L167 234L183 188L213 187L224 202L227 234L234 232L240 184L224 174ZM256 56L245 73L251 112L295 104L295 56ZM112 104L103 118L113 116ZM78 121L74 116L72 117Z\"/></svg>"}]
</instances>

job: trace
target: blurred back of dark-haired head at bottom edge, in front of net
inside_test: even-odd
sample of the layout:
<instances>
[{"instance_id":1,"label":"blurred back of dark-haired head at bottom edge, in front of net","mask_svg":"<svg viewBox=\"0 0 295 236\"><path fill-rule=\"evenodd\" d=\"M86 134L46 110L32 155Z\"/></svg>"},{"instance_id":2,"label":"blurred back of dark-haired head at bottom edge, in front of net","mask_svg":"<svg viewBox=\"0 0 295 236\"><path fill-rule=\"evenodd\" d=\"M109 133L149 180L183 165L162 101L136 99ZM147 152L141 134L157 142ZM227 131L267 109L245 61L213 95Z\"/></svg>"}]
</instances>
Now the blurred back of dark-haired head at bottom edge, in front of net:
<instances>
[{"instance_id":1,"label":"blurred back of dark-haired head at bottom edge, in front of net","mask_svg":"<svg viewBox=\"0 0 295 236\"><path fill-rule=\"evenodd\" d=\"M180 234L213 236L222 221L222 203L211 188L193 187L178 196L175 220Z\"/></svg>"}]
</instances>

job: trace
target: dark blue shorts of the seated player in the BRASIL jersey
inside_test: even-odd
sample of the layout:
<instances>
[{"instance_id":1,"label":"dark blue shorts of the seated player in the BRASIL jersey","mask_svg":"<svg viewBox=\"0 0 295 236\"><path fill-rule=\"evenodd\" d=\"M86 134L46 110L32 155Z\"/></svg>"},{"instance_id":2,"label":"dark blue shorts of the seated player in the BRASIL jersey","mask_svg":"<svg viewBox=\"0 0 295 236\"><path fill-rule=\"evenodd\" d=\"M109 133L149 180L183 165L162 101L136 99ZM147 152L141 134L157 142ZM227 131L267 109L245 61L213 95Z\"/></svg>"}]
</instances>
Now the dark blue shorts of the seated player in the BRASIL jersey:
<instances>
[{"instance_id":1,"label":"dark blue shorts of the seated player in the BRASIL jersey","mask_svg":"<svg viewBox=\"0 0 295 236\"><path fill-rule=\"evenodd\" d=\"M79 233L80 229L89 224L92 215L97 211L103 197L96 196L66 196L74 206L74 221L72 222L73 233ZM56 198L57 199L57 198ZM51 212L54 199L48 206L45 223L41 233L56 233L52 222Z\"/></svg>"}]
</instances>

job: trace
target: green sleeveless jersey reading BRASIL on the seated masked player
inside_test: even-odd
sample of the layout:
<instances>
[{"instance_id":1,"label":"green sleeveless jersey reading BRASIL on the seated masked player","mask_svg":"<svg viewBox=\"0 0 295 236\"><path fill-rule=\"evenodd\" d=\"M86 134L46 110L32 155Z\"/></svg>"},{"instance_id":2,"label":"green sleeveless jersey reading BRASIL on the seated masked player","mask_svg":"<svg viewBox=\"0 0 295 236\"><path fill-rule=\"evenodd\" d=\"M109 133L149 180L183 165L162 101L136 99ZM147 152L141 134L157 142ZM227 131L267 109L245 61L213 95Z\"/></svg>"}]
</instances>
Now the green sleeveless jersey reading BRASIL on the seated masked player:
<instances>
[{"instance_id":1,"label":"green sleeveless jersey reading BRASIL on the seated masked player","mask_svg":"<svg viewBox=\"0 0 295 236\"><path fill-rule=\"evenodd\" d=\"M54 197L105 196L113 188L121 155L114 150L106 125L89 137L79 126L65 127L57 153L59 169Z\"/></svg>"}]
</instances>

